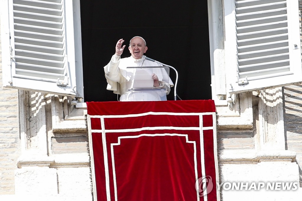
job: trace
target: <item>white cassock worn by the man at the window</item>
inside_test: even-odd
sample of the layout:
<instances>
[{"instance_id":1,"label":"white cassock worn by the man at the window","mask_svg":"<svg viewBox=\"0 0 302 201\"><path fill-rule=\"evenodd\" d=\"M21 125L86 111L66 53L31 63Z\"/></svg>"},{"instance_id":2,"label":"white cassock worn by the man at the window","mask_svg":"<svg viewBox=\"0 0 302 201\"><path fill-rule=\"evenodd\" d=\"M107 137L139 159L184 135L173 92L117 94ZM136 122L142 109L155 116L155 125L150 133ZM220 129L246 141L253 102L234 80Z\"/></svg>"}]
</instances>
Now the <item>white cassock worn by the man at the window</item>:
<instances>
[{"instance_id":1,"label":"white cassock worn by the man at the window","mask_svg":"<svg viewBox=\"0 0 302 201\"><path fill-rule=\"evenodd\" d=\"M159 78L161 86L153 87L154 89L165 89L165 93L161 90L151 91L131 91L133 88L136 69L127 69L127 67L139 66L162 66L156 62L144 59L134 59L132 56L120 59L120 56L113 55L110 62L104 66L105 77L107 80L107 89L115 94L120 94L120 101L161 101L170 92L170 88L174 86L172 80L164 68L154 68L153 73ZM151 78L151 74L150 74Z\"/></svg>"}]
</instances>

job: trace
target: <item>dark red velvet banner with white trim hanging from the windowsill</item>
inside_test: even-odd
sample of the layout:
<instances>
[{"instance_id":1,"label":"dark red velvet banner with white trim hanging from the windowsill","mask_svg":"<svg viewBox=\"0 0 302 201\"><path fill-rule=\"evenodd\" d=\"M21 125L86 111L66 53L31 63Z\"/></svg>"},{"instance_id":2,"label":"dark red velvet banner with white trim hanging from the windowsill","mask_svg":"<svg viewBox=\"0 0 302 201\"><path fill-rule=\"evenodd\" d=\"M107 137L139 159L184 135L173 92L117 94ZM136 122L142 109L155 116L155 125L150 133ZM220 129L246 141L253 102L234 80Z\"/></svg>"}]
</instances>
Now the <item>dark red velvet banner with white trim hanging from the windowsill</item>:
<instances>
[{"instance_id":1,"label":"dark red velvet banner with white trim hanging from the windowsill","mask_svg":"<svg viewBox=\"0 0 302 201\"><path fill-rule=\"evenodd\" d=\"M88 102L87 110L95 200L220 200L214 101Z\"/></svg>"}]
</instances>

